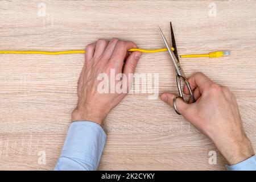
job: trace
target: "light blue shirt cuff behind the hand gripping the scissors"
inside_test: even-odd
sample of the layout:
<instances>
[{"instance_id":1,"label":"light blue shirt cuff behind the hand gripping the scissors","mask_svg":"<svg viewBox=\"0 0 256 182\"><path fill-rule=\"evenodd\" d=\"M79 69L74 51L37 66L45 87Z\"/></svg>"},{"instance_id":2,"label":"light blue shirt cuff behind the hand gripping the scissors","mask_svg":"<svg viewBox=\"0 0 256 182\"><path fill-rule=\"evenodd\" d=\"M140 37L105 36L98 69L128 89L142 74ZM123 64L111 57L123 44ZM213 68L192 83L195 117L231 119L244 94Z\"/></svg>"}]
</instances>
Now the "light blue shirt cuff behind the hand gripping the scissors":
<instances>
[{"instance_id":1,"label":"light blue shirt cuff behind the hand gripping the scissors","mask_svg":"<svg viewBox=\"0 0 256 182\"><path fill-rule=\"evenodd\" d=\"M241 163L232 166L226 165L229 171L256 171L256 156L243 160Z\"/></svg>"}]
</instances>

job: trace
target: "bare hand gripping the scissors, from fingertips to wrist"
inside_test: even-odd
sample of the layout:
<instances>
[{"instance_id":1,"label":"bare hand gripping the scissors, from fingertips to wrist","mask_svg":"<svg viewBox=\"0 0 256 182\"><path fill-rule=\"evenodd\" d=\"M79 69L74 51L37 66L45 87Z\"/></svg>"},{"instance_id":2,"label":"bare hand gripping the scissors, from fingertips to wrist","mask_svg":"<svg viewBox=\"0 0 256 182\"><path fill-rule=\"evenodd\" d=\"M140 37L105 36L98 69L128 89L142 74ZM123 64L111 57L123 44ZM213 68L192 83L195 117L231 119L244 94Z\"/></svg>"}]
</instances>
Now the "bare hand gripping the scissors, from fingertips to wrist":
<instances>
[{"instance_id":1,"label":"bare hand gripping the scissors, from fingertips to wrist","mask_svg":"<svg viewBox=\"0 0 256 182\"><path fill-rule=\"evenodd\" d=\"M189 104L177 98L177 110L185 119L207 135L230 165L254 155L250 140L242 128L236 97L225 86L219 86L203 73L188 79L196 102ZM188 88L184 93L189 94ZM163 93L161 99L173 107L175 95Z\"/></svg>"}]
</instances>

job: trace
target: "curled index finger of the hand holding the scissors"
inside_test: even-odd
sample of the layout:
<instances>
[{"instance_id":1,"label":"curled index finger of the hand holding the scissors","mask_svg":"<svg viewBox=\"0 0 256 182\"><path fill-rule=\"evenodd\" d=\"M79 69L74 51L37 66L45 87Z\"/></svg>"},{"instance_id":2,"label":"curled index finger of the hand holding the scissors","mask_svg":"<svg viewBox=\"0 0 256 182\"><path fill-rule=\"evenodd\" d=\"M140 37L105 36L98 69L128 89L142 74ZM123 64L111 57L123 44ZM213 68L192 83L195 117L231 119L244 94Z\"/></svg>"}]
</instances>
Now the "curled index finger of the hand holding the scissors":
<instances>
[{"instance_id":1,"label":"curled index finger of the hand holding the scissors","mask_svg":"<svg viewBox=\"0 0 256 182\"><path fill-rule=\"evenodd\" d=\"M207 76L205 76L203 73L201 72L197 72L194 75L192 75L189 79L188 82L191 86L191 90L197 88L197 86L200 87L201 92L203 92L203 90L209 86L210 84L212 84L212 80L210 80L210 78L208 78ZM188 88L187 86L184 86L183 92L185 94L189 94Z\"/></svg>"}]
</instances>

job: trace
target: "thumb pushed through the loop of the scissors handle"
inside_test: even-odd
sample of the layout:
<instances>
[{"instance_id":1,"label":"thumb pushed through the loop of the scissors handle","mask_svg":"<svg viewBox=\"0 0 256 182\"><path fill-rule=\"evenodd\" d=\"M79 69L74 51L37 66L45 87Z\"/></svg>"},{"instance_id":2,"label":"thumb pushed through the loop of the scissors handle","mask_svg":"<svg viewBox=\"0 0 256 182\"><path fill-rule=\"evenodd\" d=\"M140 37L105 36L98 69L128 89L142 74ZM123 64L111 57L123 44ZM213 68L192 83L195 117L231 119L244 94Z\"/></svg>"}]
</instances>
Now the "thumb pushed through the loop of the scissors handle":
<instances>
[{"instance_id":1,"label":"thumb pushed through the loop of the scissors handle","mask_svg":"<svg viewBox=\"0 0 256 182\"><path fill-rule=\"evenodd\" d=\"M175 94L172 93L163 93L160 98L162 101L166 102L168 105L174 108L174 98L176 97ZM189 104L185 103L181 98L177 98L176 100L177 110L181 115L187 113Z\"/></svg>"}]
</instances>

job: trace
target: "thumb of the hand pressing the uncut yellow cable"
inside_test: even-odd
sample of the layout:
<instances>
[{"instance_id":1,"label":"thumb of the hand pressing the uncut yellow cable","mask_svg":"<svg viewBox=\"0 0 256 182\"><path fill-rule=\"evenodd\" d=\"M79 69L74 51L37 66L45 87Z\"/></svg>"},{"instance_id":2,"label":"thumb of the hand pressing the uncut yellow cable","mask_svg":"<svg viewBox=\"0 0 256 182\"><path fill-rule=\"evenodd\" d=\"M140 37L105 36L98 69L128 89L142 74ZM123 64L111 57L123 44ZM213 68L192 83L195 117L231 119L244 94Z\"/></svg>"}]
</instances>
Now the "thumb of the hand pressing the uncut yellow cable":
<instances>
[{"instance_id":1,"label":"thumb of the hand pressing the uncut yellow cable","mask_svg":"<svg viewBox=\"0 0 256 182\"><path fill-rule=\"evenodd\" d=\"M141 55L142 55L141 52L134 51L126 59L125 66L123 68L123 74L126 75L126 85L127 85L128 92L131 88L131 84L133 83L133 73L135 72L135 68L137 66L138 60L141 57ZM130 74L132 74L131 77L130 77Z\"/></svg>"}]
</instances>

